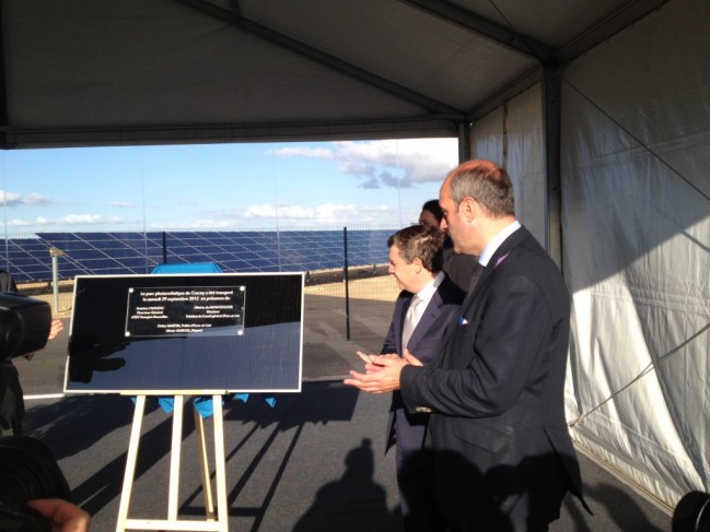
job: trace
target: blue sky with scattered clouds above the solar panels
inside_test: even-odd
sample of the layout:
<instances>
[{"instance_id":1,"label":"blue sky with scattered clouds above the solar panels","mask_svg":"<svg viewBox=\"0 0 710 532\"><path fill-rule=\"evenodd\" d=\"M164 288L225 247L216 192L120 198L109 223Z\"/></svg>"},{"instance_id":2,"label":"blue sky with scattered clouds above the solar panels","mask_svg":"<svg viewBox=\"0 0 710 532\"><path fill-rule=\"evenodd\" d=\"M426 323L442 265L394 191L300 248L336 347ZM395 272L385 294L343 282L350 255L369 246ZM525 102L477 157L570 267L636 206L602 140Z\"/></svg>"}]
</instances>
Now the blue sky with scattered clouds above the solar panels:
<instances>
[{"instance_id":1,"label":"blue sky with scattered clouds above the solar panels","mask_svg":"<svg viewBox=\"0 0 710 532\"><path fill-rule=\"evenodd\" d=\"M7 235L416 222L455 139L16 150L0 153Z\"/></svg>"}]
</instances>

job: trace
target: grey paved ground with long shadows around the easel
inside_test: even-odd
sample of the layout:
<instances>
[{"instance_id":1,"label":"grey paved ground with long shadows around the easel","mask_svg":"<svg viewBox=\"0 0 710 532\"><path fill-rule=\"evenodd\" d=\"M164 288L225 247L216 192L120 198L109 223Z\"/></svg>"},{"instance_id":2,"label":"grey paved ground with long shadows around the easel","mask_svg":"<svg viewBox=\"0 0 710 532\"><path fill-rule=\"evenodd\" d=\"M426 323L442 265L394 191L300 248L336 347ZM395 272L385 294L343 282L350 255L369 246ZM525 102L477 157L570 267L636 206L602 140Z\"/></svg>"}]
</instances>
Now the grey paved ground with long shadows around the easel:
<instances>
[{"instance_id":1,"label":"grey paved ground with long shadows around the easel","mask_svg":"<svg viewBox=\"0 0 710 532\"><path fill-rule=\"evenodd\" d=\"M327 298L306 298L306 309ZM358 348L379 348L392 304L374 304L342 328L306 323L301 393L280 394L275 407L263 397L225 405L226 478L231 531L397 531L393 456L384 456L388 398L340 383L357 366ZM389 299L391 302L392 299ZM357 309L359 303L352 306ZM369 304L372 305L372 302ZM337 303L331 315L338 310ZM68 329L68 324L67 324ZM77 503L93 515L94 532L116 529L133 415L130 398L55 397L62 389L67 331L32 362L18 360L27 401L26 430L56 453ZM188 411L189 412L189 409ZM211 424L208 423L211 434ZM140 442L130 518L166 517L172 416L149 399ZM203 519L201 481L191 415L183 431L179 515ZM663 532L670 517L585 458L585 492L594 517L574 501L552 532Z\"/></svg>"}]
</instances>

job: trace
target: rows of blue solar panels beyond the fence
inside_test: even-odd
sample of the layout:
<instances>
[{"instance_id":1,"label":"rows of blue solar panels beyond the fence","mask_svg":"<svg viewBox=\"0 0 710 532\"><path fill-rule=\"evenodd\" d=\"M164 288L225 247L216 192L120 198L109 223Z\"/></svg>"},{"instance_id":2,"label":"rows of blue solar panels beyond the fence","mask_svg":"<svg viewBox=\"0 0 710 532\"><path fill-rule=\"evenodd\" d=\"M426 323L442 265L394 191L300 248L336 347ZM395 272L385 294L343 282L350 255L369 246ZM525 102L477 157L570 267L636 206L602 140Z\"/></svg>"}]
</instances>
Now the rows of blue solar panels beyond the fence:
<instances>
[{"instance_id":1,"label":"rows of blue solar panels beyond the fence","mask_svg":"<svg viewBox=\"0 0 710 532\"><path fill-rule=\"evenodd\" d=\"M394 230L348 229L348 264L387 262ZM59 279L150 273L165 262L216 262L224 272L316 271L345 265L345 235L342 229L38 233L7 239L0 261L18 282L51 280L50 249L59 252Z\"/></svg>"}]
</instances>

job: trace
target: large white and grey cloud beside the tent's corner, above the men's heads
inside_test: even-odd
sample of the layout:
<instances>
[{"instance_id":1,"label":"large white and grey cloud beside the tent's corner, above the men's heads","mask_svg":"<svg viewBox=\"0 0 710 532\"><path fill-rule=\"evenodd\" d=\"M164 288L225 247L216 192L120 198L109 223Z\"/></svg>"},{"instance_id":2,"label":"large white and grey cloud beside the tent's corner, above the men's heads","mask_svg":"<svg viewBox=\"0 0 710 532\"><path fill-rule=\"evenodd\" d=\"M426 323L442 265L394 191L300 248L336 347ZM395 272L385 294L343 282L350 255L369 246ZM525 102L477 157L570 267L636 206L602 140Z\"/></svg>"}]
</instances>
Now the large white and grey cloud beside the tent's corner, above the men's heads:
<instances>
[{"instance_id":1,"label":"large white and grey cloud beside the tent's corner, above the men's heads","mask_svg":"<svg viewBox=\"0 0 710 532\"><path fill-rule=\"evenodd\" d=\"M458 161L456 139L407 139L333 142L329 147L284 147L281 157L312 157L338 163L341 174L361 179L363 188L410 187L441 182Z\"/></svg>"}]
</instances>

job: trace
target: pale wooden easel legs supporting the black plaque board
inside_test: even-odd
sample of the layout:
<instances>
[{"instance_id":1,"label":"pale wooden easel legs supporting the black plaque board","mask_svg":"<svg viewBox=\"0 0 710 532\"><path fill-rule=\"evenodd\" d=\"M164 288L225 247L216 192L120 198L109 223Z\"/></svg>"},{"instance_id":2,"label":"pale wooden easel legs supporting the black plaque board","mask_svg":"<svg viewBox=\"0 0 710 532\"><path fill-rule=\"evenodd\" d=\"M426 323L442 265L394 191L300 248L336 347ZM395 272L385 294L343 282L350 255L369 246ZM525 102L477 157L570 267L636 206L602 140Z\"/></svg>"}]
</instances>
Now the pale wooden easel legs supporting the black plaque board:
<instances>
[{"instance_id":1,"label":"pale wooden easel legs supporting the black plaque board","mask_svg":"<svg viewBox=\"0 0 710 532\"><path fill-rule=\"evenodd\" d=\"M197 428L200 470L202 474L202 493L205 495L206 520L181 520L177 516L178 487L179 487L179 461L181 447L183 441L183 411L185 395L174 395L173 403L173 440L171 447L170 485L167 495L167 518L166 519L128 519L130 495L136 476L136 461L138 458L138 445L140 442L141 425L146 411L146 395L136 398L136 411L133 413L133 425L130 431L128 445L128 457L126 460L126 473L124 475L124 487L120 495L118 508L118 521L116 532L126 530L181 530L181 531L214 531L229 532L229 508L226 506L226 474L224 461L224 424L222 418L222 395L212 395L214 421L214 470L217 483L217 513L212 501L212 488L210 482L209 460L207 457L207 445L205 441L205 422L195 410L195 426Z\"/></svg>"}]
</instances>

